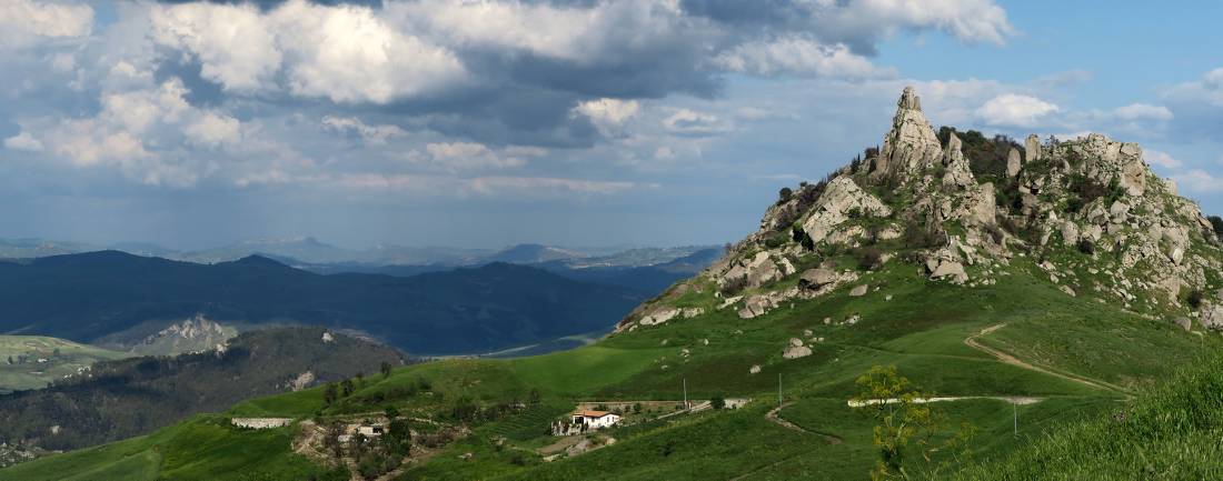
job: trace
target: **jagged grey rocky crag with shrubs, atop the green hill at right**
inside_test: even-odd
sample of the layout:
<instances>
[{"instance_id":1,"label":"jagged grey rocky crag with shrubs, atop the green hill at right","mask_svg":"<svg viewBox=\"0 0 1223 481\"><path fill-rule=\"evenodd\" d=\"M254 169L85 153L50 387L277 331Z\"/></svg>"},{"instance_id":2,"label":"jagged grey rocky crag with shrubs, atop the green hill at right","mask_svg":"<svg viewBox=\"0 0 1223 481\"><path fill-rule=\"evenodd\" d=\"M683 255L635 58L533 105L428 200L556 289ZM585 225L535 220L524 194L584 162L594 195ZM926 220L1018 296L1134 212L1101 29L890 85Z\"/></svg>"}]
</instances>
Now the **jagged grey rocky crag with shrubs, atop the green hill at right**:
<instances>
[{"instance_id":1,"label":"jagged grey rocky crag with shrubs, atop the green hill at right","mask_svg":"<svg viewBox=\"0 0 1223 481\"><path fill-rule=\"evenodd\" d=\"M1000 137L993 145L1004 154L970 159L960 133L936 132L906 88L882 148L824 181L783 189L757 232L637 308L616 332L703 315L676 302L693 292L713 291L718 309L741 319L843 288L862 295L863 272L896 261L966 288L1005 282L1003 267L1032 262L1066 295L1186 330L1223 330L1218 234L1150 170L1137 144L1032 134L1022 145ZM861 269L834 261L849 251Z\"/></svg>"}]
</instances>

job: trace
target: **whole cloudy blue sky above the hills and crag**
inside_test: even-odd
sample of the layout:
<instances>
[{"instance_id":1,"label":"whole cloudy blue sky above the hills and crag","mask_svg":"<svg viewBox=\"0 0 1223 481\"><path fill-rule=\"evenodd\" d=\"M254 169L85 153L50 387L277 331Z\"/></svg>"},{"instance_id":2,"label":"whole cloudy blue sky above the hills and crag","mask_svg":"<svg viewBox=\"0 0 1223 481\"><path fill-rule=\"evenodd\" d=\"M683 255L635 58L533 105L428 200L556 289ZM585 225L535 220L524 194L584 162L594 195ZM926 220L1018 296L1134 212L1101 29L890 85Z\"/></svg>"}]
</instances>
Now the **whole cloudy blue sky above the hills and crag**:
<instances>
[{"instance_id":1,"label":"whole cloudy blue sky above the hills and crag","mask_svg":"<svg viewBox=\"0 0 1223 481\"><path fill-rule=\"evenodd\" d=\"M1223 4L0 1L0 237L714 244L937 127L1101 132L1223 214Z\"/></svg>"}]
</instances>

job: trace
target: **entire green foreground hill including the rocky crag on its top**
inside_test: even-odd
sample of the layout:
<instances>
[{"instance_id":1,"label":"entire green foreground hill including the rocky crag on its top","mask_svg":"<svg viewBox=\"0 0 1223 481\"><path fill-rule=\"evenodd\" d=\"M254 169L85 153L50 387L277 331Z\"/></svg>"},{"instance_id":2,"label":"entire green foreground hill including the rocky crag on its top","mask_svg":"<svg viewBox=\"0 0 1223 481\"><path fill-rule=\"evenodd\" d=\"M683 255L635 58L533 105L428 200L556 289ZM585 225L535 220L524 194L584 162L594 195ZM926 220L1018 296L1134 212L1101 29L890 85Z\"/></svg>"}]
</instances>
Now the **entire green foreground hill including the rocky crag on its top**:
<instances>
[{"instance_id":1,"label":"entire green foreground hill including the rocky crag on its top","mask_svg":"<svg viewBox=\"0 0 1223 481\"><path fill-rule=\"evenodd\" d=\"M253 432L197 418L0 475L325 477L347 468L395 480L865 480L881 447L861 405L901 400L860 380L894 366L920 391L896 397L928 400L916 404L931 415L928 437L889 463L936 479L1003 463L1011 479L1031 479L1024 460L1048 453L1036 442L1142 411L1136 393L1223 348L1219 239L1137 145L936 132L906 89L882 149L863 154L784 189L756 233L593 345L405 366L334 399L319 388L251 399L229 415L296 424ZM713 409L734 398L750 400ZM388 407L413 432L406 457L330 435ZM624 421L552 436L578 407ZM1150 416L1136 419L1131 435L1142 435ZM918 439L949 446L966 432L975 436L954 449L918 452ZM191 448L192 438L225 448ZM1005 465L1011 455L1019 468Z\"/></svg>"}]
</instances>

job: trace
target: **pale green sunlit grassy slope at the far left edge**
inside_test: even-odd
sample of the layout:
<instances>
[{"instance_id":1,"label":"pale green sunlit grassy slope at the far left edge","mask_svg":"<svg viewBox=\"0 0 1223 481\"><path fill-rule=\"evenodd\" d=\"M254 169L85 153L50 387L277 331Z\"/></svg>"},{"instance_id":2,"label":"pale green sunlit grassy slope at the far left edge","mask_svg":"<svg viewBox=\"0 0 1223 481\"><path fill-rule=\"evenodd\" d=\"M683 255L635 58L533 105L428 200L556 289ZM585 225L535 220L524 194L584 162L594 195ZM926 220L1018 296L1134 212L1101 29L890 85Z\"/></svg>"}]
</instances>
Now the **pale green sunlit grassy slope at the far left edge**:
<instances>
[{"instance_id":1,"label":"pale green sunlit grassy slope at the far left edge","mask_svg":"<svg viewBox=\"0 0 1223 481\"><path fill-rule=\"evenodd\" d=\"M59 349L59 354L54 354ZM9 364L18 355L24 364ZM71 341L43 336L0 336L0 393L46 387L48 382L76 374L99 360L130 358L132 354L108 350ZM37 363L39 358L48 363Z\"/></svg>"}]
</instances>

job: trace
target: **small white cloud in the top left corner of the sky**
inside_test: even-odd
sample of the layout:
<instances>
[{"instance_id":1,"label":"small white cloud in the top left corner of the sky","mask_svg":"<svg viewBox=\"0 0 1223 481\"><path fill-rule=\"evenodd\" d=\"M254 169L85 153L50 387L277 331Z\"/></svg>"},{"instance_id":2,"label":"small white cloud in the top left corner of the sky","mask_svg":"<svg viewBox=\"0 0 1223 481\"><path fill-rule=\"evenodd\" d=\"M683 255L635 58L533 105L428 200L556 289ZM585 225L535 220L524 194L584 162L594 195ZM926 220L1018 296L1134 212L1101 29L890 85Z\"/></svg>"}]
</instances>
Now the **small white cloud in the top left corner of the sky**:
<instances>
[{"instance_id":1,"label":"small white cloud in the top left corner of the sky","mask_svg":"<svg viewBox=\"0 0 1223 481\"><path fill-rule=\"evenodd\" d=\"M93 31L93 9L35 0L0 1L0 48L21 46L37 37L84 37Z\"/></svg>"}]
</instances>

